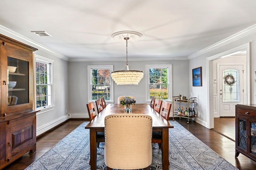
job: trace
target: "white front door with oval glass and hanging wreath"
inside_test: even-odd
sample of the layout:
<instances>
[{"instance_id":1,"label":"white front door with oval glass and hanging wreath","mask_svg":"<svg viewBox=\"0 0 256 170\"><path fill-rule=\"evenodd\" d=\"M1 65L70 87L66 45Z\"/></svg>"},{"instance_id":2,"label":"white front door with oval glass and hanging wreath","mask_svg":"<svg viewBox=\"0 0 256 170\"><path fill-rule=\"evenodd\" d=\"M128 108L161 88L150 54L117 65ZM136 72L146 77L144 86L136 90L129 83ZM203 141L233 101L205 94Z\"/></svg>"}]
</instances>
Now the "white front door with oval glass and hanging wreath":
<instances>
[{"instance_id":1,"label":"white front door with oval glass and hanging wreath","mask_svg":"<svg viewBox=\"0 0 256 170\"><path fill-rule=\"evenodd\" d=\"M235 116L235 105L243 104L243 65L220 65L220 117Z\"/></svg>"}]
</instances>

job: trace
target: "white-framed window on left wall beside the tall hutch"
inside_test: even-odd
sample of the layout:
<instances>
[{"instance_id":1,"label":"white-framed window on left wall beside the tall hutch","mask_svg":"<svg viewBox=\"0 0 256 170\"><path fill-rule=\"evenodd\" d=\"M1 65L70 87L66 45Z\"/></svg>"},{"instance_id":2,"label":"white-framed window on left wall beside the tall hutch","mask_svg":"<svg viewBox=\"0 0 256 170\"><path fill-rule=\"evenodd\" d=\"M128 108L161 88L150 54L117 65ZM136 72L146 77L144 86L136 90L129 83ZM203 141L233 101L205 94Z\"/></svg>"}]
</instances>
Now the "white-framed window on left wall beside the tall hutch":
<instances>
[{"instance_id":1,"label":"white-framed window on left wall beside the tall hutch","mask_svg":"<svg viewBox=\"0 0 256 170\"><path fill-rule=\"evenodd\" d=\"M36 109L53 106L53 61L35 55Z\"/></svg>"}]
</instances>

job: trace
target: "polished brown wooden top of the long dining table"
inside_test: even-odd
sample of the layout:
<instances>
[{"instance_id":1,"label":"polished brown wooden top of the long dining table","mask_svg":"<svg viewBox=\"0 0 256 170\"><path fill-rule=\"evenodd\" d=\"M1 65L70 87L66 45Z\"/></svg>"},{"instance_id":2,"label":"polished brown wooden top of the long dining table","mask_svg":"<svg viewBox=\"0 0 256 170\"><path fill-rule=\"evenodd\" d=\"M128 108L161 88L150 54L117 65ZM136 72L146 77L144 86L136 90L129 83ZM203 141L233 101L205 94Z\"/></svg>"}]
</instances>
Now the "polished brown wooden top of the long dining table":
<instances>
[{"instance_id":1,"label":"polished brown wooden top of the long dining table","mask_svg":"<svg viewBox=\"0 0 256 170\"><path fill-rule=\"evenodd\" d=\"M86 125L85 129L98 129L104 128L104 119L107 115L111 114L121 114L127 113L124 111L124 106L122 104L108 104L88 125ZM173 125L164 119L159 113L154 111L152 107L148 104L135 104L132 105L132 114L146 114L152 117L152 127L153 129L158 128L173 128Z\"/></svg>"}]
</instances>

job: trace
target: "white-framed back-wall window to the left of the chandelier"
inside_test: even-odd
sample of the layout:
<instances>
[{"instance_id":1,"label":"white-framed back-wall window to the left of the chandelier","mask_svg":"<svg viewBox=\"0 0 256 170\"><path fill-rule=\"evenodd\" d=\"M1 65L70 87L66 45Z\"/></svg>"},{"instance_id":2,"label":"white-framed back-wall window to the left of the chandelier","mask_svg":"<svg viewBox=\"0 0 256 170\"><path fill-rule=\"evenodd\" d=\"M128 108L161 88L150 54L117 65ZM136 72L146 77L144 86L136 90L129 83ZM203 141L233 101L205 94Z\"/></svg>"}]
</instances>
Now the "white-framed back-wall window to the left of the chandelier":
<instances>
[{"instance_id":1,"label":"white-framed back-wall window to the left of the chandelier","mask_svg":"<svg viewBox=\"0 0 256 170\"><path fill-rule=\"evenodd\" d=\"M111 79L113 65L90 65L88 69L88 102L104 97L113 101L114 88Z\"/></svg>"}]
</instances>

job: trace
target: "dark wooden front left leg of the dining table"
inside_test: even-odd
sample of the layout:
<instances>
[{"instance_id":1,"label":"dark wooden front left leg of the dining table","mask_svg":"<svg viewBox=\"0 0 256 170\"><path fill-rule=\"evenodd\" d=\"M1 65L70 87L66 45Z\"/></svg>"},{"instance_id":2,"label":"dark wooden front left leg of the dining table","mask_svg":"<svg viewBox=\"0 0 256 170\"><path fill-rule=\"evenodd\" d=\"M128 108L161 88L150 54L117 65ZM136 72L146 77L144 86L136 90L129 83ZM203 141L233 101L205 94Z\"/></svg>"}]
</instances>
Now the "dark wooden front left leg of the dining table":
<instances>
[{"instance_id":1,"label":"dark wooden front left leg of the dining table","mask_svg":"<svg viewBox=\"0 0 256 170\"><path fill-rule=\"evenodd\" d=\"M91 170L97 169L97 145L96 145L96 129L90 129L90 156Z\"/></svg>"}]
</instances>

